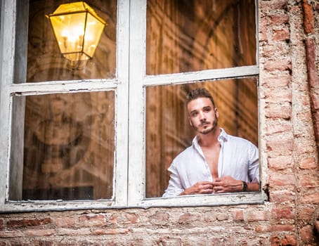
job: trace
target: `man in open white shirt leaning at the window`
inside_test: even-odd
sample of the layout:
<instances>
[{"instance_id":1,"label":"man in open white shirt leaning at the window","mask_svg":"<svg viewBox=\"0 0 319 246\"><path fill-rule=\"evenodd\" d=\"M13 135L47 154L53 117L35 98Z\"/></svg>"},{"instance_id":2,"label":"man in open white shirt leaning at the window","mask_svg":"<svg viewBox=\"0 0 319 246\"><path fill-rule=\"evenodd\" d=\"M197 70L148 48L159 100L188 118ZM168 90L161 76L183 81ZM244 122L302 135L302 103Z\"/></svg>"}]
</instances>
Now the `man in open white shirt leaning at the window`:
<instances>
[{"instance_id":1,"label":"man in open white shirt leaning at the window","mask_svg":"<svg viewBox=\"0 0 319 246\"><path fill-rule=\"evenodd\" d=\"M219 127L219 111L209 91L190 91L186 106L197 135L171 163L163 197L259 190L258 148Z\"/></svg>"}]
</instances>

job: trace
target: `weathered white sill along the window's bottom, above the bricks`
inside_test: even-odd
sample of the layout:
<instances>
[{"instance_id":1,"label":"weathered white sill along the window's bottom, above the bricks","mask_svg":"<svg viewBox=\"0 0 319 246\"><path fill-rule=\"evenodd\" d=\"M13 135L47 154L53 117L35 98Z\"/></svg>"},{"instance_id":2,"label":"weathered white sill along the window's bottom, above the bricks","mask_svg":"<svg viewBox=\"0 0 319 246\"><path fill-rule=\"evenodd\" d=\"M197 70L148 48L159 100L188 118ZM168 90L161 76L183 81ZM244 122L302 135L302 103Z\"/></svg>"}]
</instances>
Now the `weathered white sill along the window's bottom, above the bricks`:
<instances>
[{"instance_id":1,"label":"weathered white sill along the window's bottom, above the bricks","mask_svg":"<svg viewBox=\"0 0 319 246\"><path fill-rule=\"evenodd\" d=\"M77 200L77 201L21 201L6 202L0 214L18 212L48 212L85 209L129 209L149 207L198 207L222 205L263 204L267 200L263 191L247 193L224 193L214 195L183 195L174 198L146 198L140 205L116 205L114 200Z\"/></svg>"}]
</instances>

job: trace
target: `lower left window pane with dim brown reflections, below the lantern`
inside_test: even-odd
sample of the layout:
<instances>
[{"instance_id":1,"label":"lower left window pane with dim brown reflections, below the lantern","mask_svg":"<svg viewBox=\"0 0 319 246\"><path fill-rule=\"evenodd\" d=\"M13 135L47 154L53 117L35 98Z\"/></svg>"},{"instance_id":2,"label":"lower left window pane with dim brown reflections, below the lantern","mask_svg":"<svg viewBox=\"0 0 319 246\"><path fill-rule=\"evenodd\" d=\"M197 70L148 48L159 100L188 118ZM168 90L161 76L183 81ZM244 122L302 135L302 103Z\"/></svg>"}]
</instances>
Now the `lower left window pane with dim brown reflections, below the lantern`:
<instances>
[{"instance_id":1,"label":"lower left window pane with dim brown reflections, below the lantern","mask_svg":"<svg viewBox=\"0 0 319 246\"><path fill-rule=\"evenodd\" d=\"M10 199L112 198L114 100L114 91L15 97Z\"/></svg>"}]
</instances>

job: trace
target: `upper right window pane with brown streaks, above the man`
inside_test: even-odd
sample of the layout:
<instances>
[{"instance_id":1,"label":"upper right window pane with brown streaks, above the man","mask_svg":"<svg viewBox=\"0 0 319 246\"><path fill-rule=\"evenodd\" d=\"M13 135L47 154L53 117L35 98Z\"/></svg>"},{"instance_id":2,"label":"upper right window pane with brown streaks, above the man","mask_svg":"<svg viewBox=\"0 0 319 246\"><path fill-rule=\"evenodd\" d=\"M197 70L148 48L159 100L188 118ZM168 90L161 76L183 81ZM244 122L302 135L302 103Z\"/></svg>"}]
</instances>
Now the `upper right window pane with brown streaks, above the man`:
<instances>
[{"instance_id":1,"label":"upper right window pane with brown streaks, above the man","mask_svg":"<svg viewBox=\"0 0 319 246\"><path fill-rule=\"evenodd\" d=\"M147 74L256 64L254 0L148 0Z\"/></svg>"}]
</instances>

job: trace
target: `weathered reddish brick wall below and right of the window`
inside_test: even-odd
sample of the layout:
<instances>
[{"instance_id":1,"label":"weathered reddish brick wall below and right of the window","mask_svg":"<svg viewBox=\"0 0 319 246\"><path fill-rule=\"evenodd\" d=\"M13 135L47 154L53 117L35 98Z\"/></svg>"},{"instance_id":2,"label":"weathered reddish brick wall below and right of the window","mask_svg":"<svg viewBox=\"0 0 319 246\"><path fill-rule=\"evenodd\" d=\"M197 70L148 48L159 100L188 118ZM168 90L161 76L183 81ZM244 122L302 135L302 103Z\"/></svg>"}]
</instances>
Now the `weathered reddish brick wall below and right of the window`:
<instances>
[{"instance_id":1,"label":"weathered reddish brick wall below and right of the window","mask_svg":"<svg viewBox=\"0 0 319 246\"><path fill-rule=\"evenodd\" d=\"M318 71L319 2L309 2L259 1L265 204L0 214L0 245L318 245L319 90L305 43Z\"/></svg>"}]
</instances>

